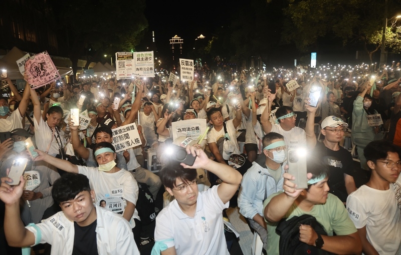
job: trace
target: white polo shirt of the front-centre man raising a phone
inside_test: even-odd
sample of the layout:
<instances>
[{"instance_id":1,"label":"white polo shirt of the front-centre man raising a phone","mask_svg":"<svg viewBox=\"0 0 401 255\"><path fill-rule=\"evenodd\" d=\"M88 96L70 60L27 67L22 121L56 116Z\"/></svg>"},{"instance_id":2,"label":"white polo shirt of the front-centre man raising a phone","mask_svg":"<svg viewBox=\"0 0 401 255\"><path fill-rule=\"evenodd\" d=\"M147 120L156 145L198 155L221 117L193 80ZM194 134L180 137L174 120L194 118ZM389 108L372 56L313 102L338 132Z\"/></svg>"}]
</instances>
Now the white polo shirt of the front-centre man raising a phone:
<instances>
[{"instance_id":1,"label":"white polo shirt of the front-centre man raising a phone","mask_svg":"<svg viewBox=\"0 0 401 255\"><path fill-rule=\"evenodd\" d=\"M222 217L229 202L223 204L218 186L198 193L193 218L182 212L176 199L171 201L156 217L154 240L167 240L163 242L174 246L177 254L229 255Z\"/></svg>"}]
</instances>

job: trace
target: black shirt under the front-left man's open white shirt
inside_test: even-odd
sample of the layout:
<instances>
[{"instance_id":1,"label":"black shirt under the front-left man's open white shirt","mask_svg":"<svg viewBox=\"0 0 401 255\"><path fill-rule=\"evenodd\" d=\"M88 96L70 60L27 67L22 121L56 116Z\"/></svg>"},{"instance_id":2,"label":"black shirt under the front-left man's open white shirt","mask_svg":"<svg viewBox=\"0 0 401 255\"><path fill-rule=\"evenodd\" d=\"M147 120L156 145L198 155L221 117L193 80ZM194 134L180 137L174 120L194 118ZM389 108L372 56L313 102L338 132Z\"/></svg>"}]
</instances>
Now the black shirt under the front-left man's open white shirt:
<instances>
[{"instance_id":1,"label":"black shirt under the front-left man's open white shirt","mask_svg":"<svg viewBox=\"0 0 401 255\"><path fill-rule=\"evenodd\" d=\"M79 226L74 221L74 247L72 255L98 254L96 244L96 223L93 221L87 226Z\"/></svg>"}]
</instances>

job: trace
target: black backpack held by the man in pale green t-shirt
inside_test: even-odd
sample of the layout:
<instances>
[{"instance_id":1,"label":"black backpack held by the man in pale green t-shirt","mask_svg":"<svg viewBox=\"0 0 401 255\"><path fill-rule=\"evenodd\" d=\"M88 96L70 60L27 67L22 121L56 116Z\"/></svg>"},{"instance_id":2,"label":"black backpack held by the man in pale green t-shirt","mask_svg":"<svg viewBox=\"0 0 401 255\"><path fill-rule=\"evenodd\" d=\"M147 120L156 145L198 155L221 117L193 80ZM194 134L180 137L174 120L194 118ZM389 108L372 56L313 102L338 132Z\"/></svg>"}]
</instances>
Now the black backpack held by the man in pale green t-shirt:
<instances>
[{"instance_id":1,"label":"black backpack held by the man in pale green t-shirt","mask_svg":"<svg viewBox=\"0 0 401 255\"><path fill-rule=\"evenodd\" d=\"M299 226L310 225L316 233L327 235L322 224L309 214L294 216L289 220L282 219L276 227L276 233L280 235L280 255L334 255L321 248L306 244L299 240Z\"/></svg>"}]
</instances>

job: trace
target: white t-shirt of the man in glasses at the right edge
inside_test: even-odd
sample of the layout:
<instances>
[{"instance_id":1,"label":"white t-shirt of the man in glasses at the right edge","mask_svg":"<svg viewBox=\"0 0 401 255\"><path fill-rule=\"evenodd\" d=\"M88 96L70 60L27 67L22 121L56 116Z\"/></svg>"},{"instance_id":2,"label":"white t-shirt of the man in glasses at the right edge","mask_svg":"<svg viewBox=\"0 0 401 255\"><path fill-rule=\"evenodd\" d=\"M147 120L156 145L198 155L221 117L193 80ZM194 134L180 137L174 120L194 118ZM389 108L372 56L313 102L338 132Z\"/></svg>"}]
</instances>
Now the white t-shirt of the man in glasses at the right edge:
<instances>
[{"instance_id":1,"label":"white t-shirt of the man in glasses at the right edge","mask_svg":"<svg viewBox=\"0 0 401 255\"><path fill-rule=\"evenodd\" d=\"M398 187L399 196L399 187ZM348 215L379 254L401 254L401 211L392 185L388 190L360 186L347 198Z\"/></svg>"}]
</instances>

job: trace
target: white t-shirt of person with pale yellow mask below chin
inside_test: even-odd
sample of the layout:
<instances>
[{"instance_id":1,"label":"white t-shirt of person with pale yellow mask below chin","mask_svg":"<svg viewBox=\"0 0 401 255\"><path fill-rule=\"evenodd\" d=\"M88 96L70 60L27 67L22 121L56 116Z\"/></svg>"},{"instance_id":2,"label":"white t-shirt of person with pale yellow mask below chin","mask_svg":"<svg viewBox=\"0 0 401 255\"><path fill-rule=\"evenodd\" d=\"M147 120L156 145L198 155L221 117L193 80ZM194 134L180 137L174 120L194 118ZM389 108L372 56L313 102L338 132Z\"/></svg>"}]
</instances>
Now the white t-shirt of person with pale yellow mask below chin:
<instances>
[{"instance_id":1,"label":"white t-shirt of person with pale yellow mask below chin","mask_svg":"<svg viewBox=\"0 0 401 255\"><path fill-rule=\"evenodd\" d=\"M115 196L124 201L136 204L139 195L138 183L132 173L121 169L116 173L99 171L98 167L78 166L78 173L86 175L89 179L91 188L95 191L95 203L99 205L100 200L105 197ZM134 218L139 219L138 211L135 208L132 219L129 221L131 227L135 227Z\"/></svg>"}]
</instances>

